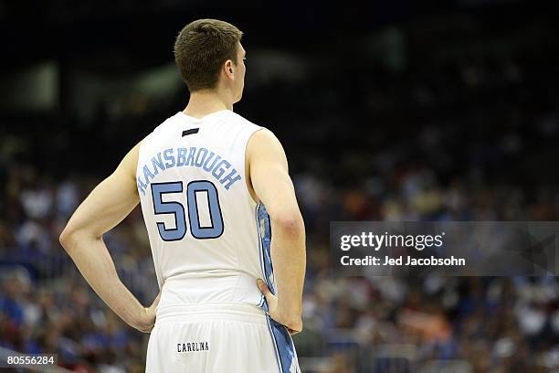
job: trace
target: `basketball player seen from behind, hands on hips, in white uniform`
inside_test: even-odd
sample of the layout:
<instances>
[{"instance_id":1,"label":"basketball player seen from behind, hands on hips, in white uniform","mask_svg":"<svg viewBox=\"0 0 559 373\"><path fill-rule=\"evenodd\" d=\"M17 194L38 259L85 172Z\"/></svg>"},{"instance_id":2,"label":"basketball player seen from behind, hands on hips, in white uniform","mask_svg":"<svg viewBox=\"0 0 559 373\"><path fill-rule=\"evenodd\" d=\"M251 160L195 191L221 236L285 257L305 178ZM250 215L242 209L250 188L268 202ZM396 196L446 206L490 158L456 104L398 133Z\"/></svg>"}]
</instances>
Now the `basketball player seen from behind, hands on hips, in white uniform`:
<instances>
[{"instance_id":1,"label":"basketball player seen from behind, hands on hips, in white uniform","mask_svg":"<svg viewBox=\"0 0 559 373\"><path fill-rule=\"evenodd\" d=\"M180 32L185 110L133 147L60 236L103 301L152 332L149 372L300 371L290 334L302 328L304 225L280 142L232 111L244 87L241 36L213 19ZM161 289L149 307L102 240L138 202Z\"/></svg>"}]
</instances>

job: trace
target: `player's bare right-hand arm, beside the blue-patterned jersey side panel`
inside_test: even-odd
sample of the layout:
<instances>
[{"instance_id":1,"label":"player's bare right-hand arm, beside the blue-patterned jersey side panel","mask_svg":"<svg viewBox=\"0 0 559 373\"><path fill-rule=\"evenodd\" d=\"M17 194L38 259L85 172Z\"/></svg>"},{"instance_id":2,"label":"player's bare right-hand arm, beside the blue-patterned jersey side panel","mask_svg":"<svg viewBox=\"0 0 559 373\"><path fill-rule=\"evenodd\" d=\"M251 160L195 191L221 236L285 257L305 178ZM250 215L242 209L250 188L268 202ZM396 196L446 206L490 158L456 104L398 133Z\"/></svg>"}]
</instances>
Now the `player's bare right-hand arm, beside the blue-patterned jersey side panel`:
<instances>
[{"instance_id":1,"label":"player's bare right-hand arm, beside the blue-patterned jersey side panel","mask_svg":"<svg viewBox=\"0 0 559 373\"><path fill-rule=\"evenodd\" d=\"M258 288L266 296L269 315L295 334L302 329L305 227L288 173L287 157L280 141L265 129L252 135L247 152L252 187L271 220L277 297L261 280L258 280Z\"/></svg>"}]
</instances>

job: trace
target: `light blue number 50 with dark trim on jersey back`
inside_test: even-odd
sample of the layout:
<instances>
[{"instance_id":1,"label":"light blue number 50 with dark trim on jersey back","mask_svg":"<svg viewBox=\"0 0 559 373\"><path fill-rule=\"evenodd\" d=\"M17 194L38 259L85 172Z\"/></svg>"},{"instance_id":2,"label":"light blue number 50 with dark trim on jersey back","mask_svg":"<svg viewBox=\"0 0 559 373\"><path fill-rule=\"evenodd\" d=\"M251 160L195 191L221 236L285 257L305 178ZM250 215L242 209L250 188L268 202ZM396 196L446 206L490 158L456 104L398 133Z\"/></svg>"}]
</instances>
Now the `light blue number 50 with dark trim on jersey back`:
<instances>
[{"instance_id":1,"label":"light blue number 50 with dark trim on jersey back","mask_svg":"<svg viewBox=\"0 0 559 373\"><path fill-rule=\"evenodd\" d=\"M183 193L183 182L152 184L153 212L155 215L174 214L176 227L167 229L164 223L157 223L157 229L159 229L159 235L162 240L182 240L187 230L185 206L176 201L163 201L163 195L167 193ZM210 226L202 227L200 225L198 201L196 200L197 193L207 194ZM186 204L188 207L190 231L195 239L216 239L221 236L223 233L223 217L221 216L219 197L217 197L217 189L214 184L207 180L196 180L188 183L186 186Z\"/></svg>"}]
</instances>

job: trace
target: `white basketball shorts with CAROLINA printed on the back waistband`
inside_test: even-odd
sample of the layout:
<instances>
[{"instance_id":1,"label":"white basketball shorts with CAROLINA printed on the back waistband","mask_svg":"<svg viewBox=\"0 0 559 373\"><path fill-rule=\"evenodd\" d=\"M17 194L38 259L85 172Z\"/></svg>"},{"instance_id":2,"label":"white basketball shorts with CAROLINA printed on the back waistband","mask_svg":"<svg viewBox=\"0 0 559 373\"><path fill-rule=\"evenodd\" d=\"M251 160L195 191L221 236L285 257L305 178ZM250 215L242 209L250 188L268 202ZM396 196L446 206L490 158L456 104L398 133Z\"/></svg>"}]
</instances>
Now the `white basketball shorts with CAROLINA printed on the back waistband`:
<instances>
[{"instance_id":1,"label":"white basketball shorts with CAROLINA printed on the back waistband","mask_svg":"<svg viewBox=\"0 0 559 373\"><path fill-rule=\"evenodd\" d=\"M249 304L158 307L149 373L300 373L285 326Z\"/></svg>"}]
</instances>

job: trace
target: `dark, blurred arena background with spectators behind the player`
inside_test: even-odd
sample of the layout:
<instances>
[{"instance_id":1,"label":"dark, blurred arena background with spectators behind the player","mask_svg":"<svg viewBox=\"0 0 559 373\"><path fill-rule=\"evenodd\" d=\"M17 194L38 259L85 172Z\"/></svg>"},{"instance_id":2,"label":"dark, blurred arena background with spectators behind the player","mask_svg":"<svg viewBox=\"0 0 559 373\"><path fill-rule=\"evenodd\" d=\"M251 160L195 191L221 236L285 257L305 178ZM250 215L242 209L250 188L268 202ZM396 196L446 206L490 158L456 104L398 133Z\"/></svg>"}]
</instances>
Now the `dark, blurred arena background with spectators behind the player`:
<instances>
[{"instance_id":1,"label":"dark, blurred arena background with spectators behind the player","mask_svg":"<svg viewBox=\"0 0 559 373\"><path fill-rule=\"evenodd\" d=\"M185 107L178 31L245 32L235 111L290 159L308 230L305 372L559 371L554 277L343 278L331 220L558 220L559 12L544 2L336 5L0 2L0 357L142 372L148 335L101 304L58 244L90 189ZM105 240L157 292L137 208Z\"/></svg>"}]
</instances>

